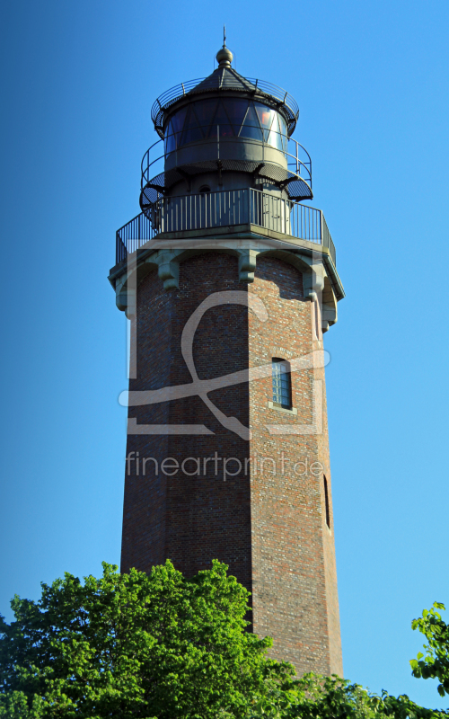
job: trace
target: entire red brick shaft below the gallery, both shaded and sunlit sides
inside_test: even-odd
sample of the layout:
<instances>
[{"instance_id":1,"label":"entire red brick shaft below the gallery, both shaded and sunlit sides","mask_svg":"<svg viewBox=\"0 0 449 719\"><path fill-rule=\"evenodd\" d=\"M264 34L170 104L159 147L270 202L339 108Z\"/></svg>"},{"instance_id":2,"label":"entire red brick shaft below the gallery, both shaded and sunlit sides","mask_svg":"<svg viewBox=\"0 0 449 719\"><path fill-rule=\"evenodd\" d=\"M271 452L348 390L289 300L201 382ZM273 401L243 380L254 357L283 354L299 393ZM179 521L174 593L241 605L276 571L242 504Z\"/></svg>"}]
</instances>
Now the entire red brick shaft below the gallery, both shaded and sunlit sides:
<instances>
[{"instance_id":1,"label":"entire red brick shaft below the gallery, both shaded and sunlit sides","mask_svg":"<svg viewBox=\"0 0 449 719\"><path fill-rule=\"evenodd\" d=\"M130 389L189 383L180 353L180 335L192 312L212 292L248 291L260 297L269 319L261 323L244 306L207 310L195 334L193 356L200 379L239 369L292 359L321 347L313 334L313 305L304 301L302 275L275 257L260 257L253 284L238 281L237 259L203 253L180 264L180 289L164 292L155 272L137 290L137 379ZM321 338L320 338L321 339ZM204 423L209 436L128 436L128 450L140 458L199 457L201 475L154 473L126 476L122 571L148 571L170 557L191 575L213 558L229 564L230 573L252 591L254 630L274 638L272 655L295 663L299 672L341 673L339 612L333 545L333 522L326 526L322 473L295 474L295 462L321 462L330 492L327 422L321 435L272 436L267 424L311 424L313 378L324 370L292 375L297 416L269 409L271 377L210 393L227 416L252 427L250 442L226 430L198 397L171 403L130 407L137 423ZM325 395L325 393L324 393ZM324 413L325 414L325 413ZM242 473L223 480L203 460L237 457ZM281 453L290 460L281 472ZM265 462L244 475L245 458L272 457L276 475ZM233 466L236 467L234 464ZM231 466L231 471L233 470ZM193 471L189 463L187 469ZM142 468L140 468L142 469ZM299 468L301 471L303 467ZM317 466L314 466L315 472Z\"/></svg>"}]
</instances>

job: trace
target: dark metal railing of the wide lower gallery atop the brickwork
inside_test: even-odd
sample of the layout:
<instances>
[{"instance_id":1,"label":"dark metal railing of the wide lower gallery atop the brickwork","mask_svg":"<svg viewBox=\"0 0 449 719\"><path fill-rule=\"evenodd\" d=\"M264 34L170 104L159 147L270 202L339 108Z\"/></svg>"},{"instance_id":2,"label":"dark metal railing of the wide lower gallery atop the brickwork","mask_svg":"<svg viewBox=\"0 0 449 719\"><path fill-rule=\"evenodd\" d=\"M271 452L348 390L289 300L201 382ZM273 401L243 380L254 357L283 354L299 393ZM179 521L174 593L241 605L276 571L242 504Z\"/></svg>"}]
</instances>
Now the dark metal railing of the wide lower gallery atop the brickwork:
<instances>
[{"instance_id":1,"label":"dark metal railing of the wide lower gallery atop the brickwork","mask_svg":"<svg viewBox=\"0 0 449 719\"><path fill-rule=\"evenodd\" d=\"M116 233L116 261L160 233L257 225L282 235L322 244L336 262L335 246L321 209L246 188L166 197L154 203L151 220L141 213Z\"/></svg>"}]
</instances>

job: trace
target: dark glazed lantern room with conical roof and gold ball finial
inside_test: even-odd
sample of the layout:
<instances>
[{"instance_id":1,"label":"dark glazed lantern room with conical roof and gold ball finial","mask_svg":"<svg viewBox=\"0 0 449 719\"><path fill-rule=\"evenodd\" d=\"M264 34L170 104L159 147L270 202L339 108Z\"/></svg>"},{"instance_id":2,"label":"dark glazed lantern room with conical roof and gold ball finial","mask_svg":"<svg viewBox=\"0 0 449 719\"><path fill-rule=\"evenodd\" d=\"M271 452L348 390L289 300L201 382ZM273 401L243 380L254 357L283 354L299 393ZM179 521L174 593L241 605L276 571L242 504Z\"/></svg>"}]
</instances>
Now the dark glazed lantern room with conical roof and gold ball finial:
<instances>
[{"instance_id":1,"label":"dark glazed lantern room with conical roof and gold ball finial","mask_svg":"<svg viewBox=\"0 0 449 719\"><path fill-rule=\"evenodd\" d=\"M207 78L181 83L154 102L161 139L144 155L140 197L148 216L160 198L189 193L252 188L284 200L313 197L310 155L291 137L299 115L294 98L239 75L225 45L216 60Z\"/></svg>"}]
</instances>

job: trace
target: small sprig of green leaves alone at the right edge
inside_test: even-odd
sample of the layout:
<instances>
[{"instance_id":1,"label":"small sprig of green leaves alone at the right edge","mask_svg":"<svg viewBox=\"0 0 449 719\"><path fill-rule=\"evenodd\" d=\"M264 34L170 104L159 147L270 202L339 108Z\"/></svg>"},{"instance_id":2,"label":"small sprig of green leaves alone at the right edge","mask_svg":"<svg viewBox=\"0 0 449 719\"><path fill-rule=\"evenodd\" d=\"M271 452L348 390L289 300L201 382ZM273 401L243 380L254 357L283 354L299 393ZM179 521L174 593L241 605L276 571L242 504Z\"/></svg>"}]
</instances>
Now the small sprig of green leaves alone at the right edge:
<instances>
[{"instance_id":1,"label":"small sprig of green leaves alone at the right edge","mask_svg":"<svg viewBox=\"0 0 449 719\"><path fill-rule=\"evenodd\" d=\"M424 644L426 656L419 652L410 664L414 677L439 679L438 693L444 697L449 694L449 626L437 609L445 609L445 605L434 602L432 608L424 609L422 617L413 619L411 623L412 629L418 629L425 635L428 644Z\"/></svg>"}]
</instances>

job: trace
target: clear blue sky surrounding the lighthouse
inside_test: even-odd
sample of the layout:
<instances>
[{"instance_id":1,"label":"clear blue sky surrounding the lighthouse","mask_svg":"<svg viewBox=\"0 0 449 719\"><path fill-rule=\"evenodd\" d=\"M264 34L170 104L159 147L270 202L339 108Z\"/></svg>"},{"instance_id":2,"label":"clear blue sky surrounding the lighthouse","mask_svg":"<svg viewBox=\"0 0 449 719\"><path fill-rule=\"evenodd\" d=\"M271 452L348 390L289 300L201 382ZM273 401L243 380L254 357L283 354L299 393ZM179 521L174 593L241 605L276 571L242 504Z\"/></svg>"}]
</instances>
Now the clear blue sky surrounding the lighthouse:
<instances>
[{"instance_id":1,"label":"clear blue sky surrounding the lighthouse","mask_svg":"<svg viewBox=\"0 0 449 719\"><path fill-rule=\"evenodd\" d=\"M154 98L237 69L301 109L347 291L326 335L345 675L412 679L410 621L449 604L447 0L2 3L0 610L119 563L126 320L106 279L138 212Z\"/></svg>"}]
</instances>

